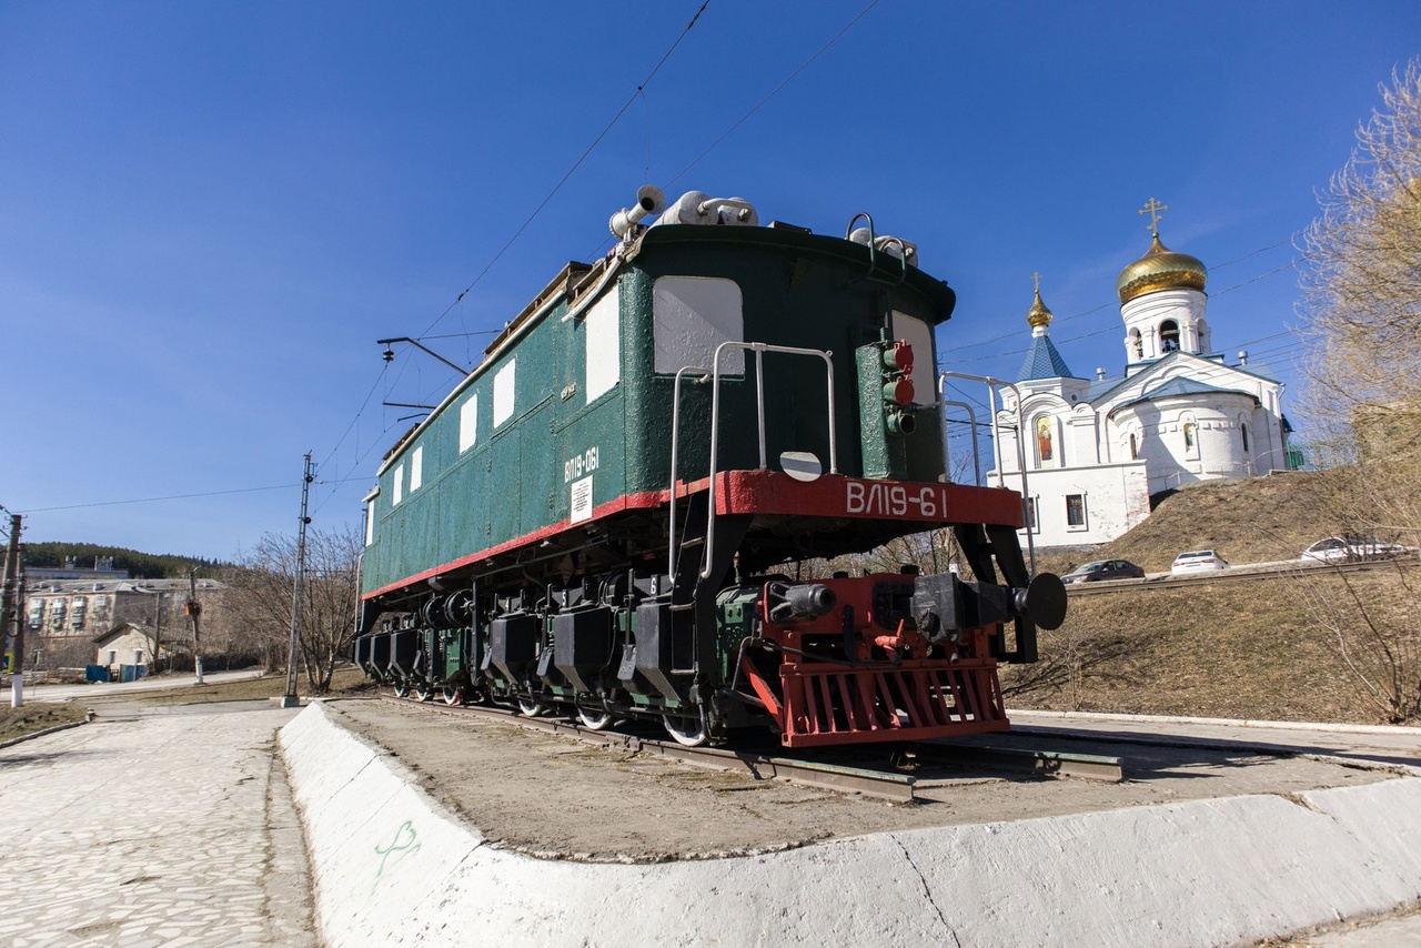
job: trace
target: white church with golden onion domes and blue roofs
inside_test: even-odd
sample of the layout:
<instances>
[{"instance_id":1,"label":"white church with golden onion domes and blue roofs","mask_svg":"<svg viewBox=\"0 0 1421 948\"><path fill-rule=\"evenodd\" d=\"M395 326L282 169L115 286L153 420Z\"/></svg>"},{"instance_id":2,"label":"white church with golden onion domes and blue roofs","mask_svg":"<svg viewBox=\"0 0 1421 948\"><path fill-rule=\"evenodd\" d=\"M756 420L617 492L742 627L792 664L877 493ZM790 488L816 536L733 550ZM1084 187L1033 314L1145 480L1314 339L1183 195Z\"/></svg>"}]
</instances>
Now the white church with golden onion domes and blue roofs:
<instances>
[{"instance_id":1,"label":"white church with golden onion domes and blue roofs","mask_svg":"<svg viewBox=\"0 0 1421 948\"><path fill-rule=\"evenodd\" d=\"M1160 209L1151 199L1147 210ZM1214 351L1208 270L1165 247L1158 216L1152 220L1150 249L1115 284L1124 375L1096 370L1087 379L1070 371L1052 344L1052 311L1037 286L1026 314L1032 348L1015 391L999 389L989 483L1020 490L1025 463L1037 549L1107 543L1150 516L1151 495L1185 483L1289 468L1282 385L1250 368L1245 352L1231 365Z\"/></svg>"}]
</instances>

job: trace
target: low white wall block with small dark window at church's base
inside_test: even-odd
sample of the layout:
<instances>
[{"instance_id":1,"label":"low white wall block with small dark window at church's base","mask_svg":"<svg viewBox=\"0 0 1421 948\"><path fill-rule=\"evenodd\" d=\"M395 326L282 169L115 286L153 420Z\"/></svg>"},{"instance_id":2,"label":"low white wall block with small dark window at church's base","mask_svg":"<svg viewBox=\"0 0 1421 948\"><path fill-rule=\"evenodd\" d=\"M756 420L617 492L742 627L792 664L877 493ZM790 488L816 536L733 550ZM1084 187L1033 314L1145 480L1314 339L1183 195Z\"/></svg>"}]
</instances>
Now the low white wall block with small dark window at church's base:
<instances>
[{"instance_id":1,"label":"low white wall block with small dark window at church's base","mask_svg":"<svg viewBox=\"0 0 1421 948\"><path fill-rule=\"evenodd\" d=\"M1141 460L1027 472L1036 515L1032 542L1037 549L1050 549L1114 540L1150 516L1147 480ZM1019 478L1007 475L1006 483L1020 490ZM1081 522L1071 523L1073 515Z\"/></svg>"}]
</instances>

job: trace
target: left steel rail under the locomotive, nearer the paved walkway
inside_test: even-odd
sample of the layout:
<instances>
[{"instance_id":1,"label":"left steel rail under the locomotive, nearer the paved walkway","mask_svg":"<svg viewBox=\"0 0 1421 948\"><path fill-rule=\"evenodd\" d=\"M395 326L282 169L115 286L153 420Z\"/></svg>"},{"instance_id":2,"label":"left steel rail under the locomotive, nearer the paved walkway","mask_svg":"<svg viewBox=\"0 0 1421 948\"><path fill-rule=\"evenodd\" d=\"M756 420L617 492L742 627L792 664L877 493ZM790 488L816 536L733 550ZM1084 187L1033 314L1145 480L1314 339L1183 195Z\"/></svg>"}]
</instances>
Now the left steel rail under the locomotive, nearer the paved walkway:
<instances>
[{"instance_id":1,"label":"left steel rail under the locomotive, nearer the paved walkway","mask_svg":"<svg viewBox=\"0 0 1421 948\"><path fill-rule=\"evenodd\" d=\"M617 731L593 731L574 721L556 718L529 718L503 711L500 708L480 708L473 705L446 705L409 698L395 698L381 695L382 701L395 704L416 705L426 711L450 715L473 715L489 721L517 725L530 731L557 733L566 738L583 740L585 743L604 748L630 750L632 753L654 753L682 763L716 767L720 770L745 770L756 780L782 779L803 786L824 790L838 790L841 793L860 793L894 803L912 803L914 785L917 777L901 773L881 773L878 770L863 770L858 767L837 766L833 763L817 763L811 760L793 760L787 758L766 756L749 750L726 750L725 748L688 748L672 740L657 740L638 735L621 733Z\"/></svg>"}]
</instances>

